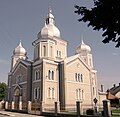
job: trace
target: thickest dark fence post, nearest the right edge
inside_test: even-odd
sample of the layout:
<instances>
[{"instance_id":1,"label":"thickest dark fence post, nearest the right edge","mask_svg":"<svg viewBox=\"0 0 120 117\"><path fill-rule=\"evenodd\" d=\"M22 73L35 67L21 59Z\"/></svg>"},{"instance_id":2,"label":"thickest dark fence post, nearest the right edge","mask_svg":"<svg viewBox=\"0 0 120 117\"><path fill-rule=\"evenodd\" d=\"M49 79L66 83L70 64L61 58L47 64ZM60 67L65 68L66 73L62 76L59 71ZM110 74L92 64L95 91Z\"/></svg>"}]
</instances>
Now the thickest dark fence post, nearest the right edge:
<instances>
[{"instance_id":1,"label":"thickest dark fence post, nearest the right edge","mask_svg":"<svg viewBox=\"0 0 120 117\"><path fill-rule=\"evenodd\" d=\"M111 117L110 101L103 100L104 117Z\"/></svg>"}]
</instances>

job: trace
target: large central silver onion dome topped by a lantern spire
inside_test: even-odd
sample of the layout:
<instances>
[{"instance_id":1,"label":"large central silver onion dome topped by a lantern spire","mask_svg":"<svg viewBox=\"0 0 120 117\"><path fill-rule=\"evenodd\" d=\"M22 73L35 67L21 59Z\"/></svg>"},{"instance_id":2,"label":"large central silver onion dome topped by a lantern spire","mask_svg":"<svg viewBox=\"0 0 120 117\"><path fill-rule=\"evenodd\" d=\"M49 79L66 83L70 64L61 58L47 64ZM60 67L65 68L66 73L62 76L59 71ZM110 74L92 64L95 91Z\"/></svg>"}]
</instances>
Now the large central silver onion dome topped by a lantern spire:
<instances>
[{"instance_id":1,"label":"large central silver onion dome topped by a lantern spire","mask_svg":"<svg viewBox=\"0 0 120 117\"><path fill-rule=\"evenodd\" d=\"M55 19L52 14L52 10L49 9L49 13L47 15L47 18L45 20L45 26L42 28L42 30L38 33L38 38L40 36L55 36L55 37L60 37L60 31L59 29L55 26Z\"/></svg>"}]
</instances>

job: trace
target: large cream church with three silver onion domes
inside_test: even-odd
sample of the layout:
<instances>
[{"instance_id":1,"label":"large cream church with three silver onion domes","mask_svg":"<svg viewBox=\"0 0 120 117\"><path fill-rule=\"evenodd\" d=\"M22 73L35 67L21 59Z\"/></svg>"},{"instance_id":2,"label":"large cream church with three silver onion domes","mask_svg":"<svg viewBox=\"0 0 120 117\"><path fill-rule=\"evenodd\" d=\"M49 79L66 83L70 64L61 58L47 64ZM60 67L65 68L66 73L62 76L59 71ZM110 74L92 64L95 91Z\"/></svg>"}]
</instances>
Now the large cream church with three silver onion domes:
<instances>
[{"instance_id":1,"label":"large cream church with three silver onion domes","mask_svg":"<svg viewBox=\"0 0 120 117\"><path fill-rule=\"evenodd\" d=\"M67 57L67 41L61 38L51 10L32 45L32 61L27 59L21 42L13 52L7 108L27 110L28 101L41 104L43 110L54 102L60 102L60 109L67 109L76 101L82 102L83 109L93 108L93 99L99 96L91 48L82 40L76 54Z\"/></svg>"}]
</instances>

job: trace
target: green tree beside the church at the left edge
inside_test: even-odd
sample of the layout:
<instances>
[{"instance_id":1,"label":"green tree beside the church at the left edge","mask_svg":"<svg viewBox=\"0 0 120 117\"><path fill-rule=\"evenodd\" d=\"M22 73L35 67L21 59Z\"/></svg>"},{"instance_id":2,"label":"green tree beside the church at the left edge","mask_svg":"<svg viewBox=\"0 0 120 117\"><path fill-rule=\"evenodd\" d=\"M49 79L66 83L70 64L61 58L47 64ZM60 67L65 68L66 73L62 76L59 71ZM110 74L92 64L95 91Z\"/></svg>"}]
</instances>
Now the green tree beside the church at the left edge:
<instances>
[{"instance_id":1,"label":"green tree beside the church at the left edge","mask_svg":"<svg viewBox=\"0 0 120 117\"><path fill-rule=\"evenodd\" d=\"M5 99L7 91L7 85L5 83L0 83L0 101Z\"/></svg>"}]
</instances>

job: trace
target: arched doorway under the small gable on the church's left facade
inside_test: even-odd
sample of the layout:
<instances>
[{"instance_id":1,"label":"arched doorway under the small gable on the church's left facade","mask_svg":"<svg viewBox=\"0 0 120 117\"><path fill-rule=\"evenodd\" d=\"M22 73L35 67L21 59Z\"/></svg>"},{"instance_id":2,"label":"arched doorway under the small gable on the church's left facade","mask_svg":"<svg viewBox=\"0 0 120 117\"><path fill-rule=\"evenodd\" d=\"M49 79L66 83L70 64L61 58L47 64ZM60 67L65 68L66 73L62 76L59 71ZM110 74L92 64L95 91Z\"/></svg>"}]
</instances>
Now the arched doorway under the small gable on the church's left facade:
<instances>
[{"instance_id":1,"label":"arched doorway under the small gable on the church's left facade","mask_svg":"<svg viewBox=\"0 0 120 117\"><path fill-rule=\"evenodd\" d=\"M15 110L19 110L19 100L20 100L20 89L15 89L14 93L14 102L15 102Z\"/></svg>"}]
</instances>

